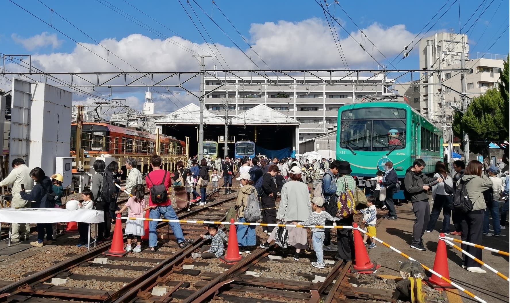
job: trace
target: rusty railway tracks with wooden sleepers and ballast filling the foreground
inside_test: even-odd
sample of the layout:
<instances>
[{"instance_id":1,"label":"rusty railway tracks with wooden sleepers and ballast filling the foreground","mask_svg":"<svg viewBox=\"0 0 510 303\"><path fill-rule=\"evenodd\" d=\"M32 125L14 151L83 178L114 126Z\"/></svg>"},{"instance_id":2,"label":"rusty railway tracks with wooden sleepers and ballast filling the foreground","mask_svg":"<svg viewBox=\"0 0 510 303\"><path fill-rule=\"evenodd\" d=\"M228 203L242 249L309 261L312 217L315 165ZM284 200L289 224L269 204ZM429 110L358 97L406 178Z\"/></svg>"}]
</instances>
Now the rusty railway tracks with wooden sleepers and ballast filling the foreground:
<instances>
[{"instance_id":1,"label":"rusty railway tracks with wooden sleepers and ballast filling the foreground","mask_svg":"<svg viewBox=\"0 0 510 303\"><path fill-rule=\"evenodd\" d=\"M234 185L236 186L236 185ZM225 209L234 205L237 191L225 195L211 193L208 206L191 212L178 209L180 219L225 219ZM165 234L167 223L158 225ZM181 224L186 238L193 243L180 249L172 234L156 253L147 250L126 257L107 257L103 252L111 242L78 255L69 255L49 268L0 288L6 302L64 302L69 300L101 303L120 302L362 302L380 299L396 302L393 292L354 287L355 274L349 273L350 262L335 262L325 256L324 269L311 267L308 254L294 261L289 251L257 248L235 265L218 259L192 259L206 240L197 224ZM311 254L313 256L313 254ZM56 280L54 280L56 279ZM55 285L63 283L60 285ZM2 284L0 284L2 285Z\"/></svg>"}]
</instances>

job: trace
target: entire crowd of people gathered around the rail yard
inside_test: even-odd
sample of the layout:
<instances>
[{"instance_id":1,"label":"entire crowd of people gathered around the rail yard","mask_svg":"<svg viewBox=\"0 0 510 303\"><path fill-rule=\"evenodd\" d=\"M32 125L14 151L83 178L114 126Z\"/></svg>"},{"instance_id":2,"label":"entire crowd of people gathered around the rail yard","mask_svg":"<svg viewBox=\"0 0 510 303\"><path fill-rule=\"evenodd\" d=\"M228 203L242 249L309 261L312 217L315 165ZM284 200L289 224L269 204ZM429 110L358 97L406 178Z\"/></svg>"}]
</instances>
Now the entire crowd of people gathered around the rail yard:
<instances>
[{"instance_id":1,"label":"entire crowd of people gathered around the rail yard","mask_svg":"<svg viewBox=\"0 0 510 303\"><path fill-rule=\"evenodd\" d=\"M148 211L148 217L159 219L177 219L170 199L170 187L173 186L175 202L178 208L190 211L193 204L205 206L207 204L206 188L211 182L214 191L219 190L218 181L223 178L225 194L237 191L236 206L231 217L239 222L250 222L246 219L246 208L250 199L256 197L260 203L262 223L283 223L301 225L342 225L352 226L353 209L352 197L355 196L359 181L351 176L350 164L347 161L332 159L285 158L267 159L265 157L243 157L231 159L218 157L214 161L189 159L176 163L174 172L161 169L161 158L154 155L150 158L151 170L145 178L146 188L149 190L146 201L141 172L137 169L137 161L127 158L126 184L118 188L120 175L117 162L108 166L103 160L96 160L93 164L95 174L90 189L82 192L83 201L80 209L95 209L103 211L104 222L98 224L97 244L109 240L111 223L114 223L116 214L129 210L129 217L141 218ZM54 174L51 177L36 167L30 169L20 158L12 161L13 170L9 176L0 182L0 186L11 185L13 198L12 206L16 208L59 208L62 206L63 177ZM387 219L397 220L395 201L393 196L403 190L405 199L410 201L415 213L413 237L410 243L412 248L426 250L423 245L423 234L432 232L441 211L443 212L443 233L461 236L464 241L481 244L482 236L498 237L505 229L506 214L508 212L508 173L503 174L495 166L484 172L483 164L473 160L466 166L462 161L453 163L454 173L450 173L443 162L437 162L435 174L429 177L423 173L425 162L416 159L406 170L405 178L399 180L393 169L392 162L386 162L383 171L377 171L376 176L368 180L372 183L370 193L367 194L366 208L358 210L362 214L363 228L371 235L376 236L376 206L387 209ZM239 173L240 189L233 190L232 179ZM319 191L314 192L311 198L309 183L314 183ZM197 188L198 187L198 188ZM472 202L472 208L461 212L453 207L455 188L465 188ZM197 191L198 189L198 191ZM119 209L116 204L119 191L128 191L132 197ZM367 188L368 191L368 188ZM429 204L429 193L433 200L432 208ZM279 205L276 207L276 199ZM33 206L31 203L34 202ZM500 204L502 207L500 208ZM492 217L493 233L490 231L490 218ZM259 218L257 218L258 220ZM450 220L453 221L454 230L450 230ZM184 247L192 240L185 239L181 225L170 222L179 247ZM149 221L149 250L158 249L156 221ZM212 241L210 246L195 253L196 258L219 258L224 254L223 245L226 244L226 235L218 229L219 226L210 224L205 226L209 235L203 236ZM257 246L257 236L254 225L236 225L237 241L240 251L250 253L253 249L261 247L270 249L274 242L281 245L278 239L279 228L263 226L263 232L268 234L265 241ZM294 260L299 260L303 249L308 248L307 229L287 228L288 243L295 249ZM316 252L317 261L312 266L323 268L323 251L336 251L336 259L352 261L354 259L353 238L351 229L335 229L337 244L331 242L331 231L325 228L313 228L311 243ZM37 224L37 241L31 242L33 246L41 247L52 244L57 234L57 224ZM79 224L79 247L87 247L89 242L88 224ZM125 233L127 235L127 251L141 252L141 236L144 236L143 221L128 220ZM13 223L11 243L16 244L28 240L30 226L27 223ZM374 241L365 235L363 241L369 248L375 248ZM136 245L133 248L132 243ZM463 245L468 253L481 260L481 249ZM464 265L472 272L485 272L478 263L466 257Z\"/></svg>"}]
</instances>

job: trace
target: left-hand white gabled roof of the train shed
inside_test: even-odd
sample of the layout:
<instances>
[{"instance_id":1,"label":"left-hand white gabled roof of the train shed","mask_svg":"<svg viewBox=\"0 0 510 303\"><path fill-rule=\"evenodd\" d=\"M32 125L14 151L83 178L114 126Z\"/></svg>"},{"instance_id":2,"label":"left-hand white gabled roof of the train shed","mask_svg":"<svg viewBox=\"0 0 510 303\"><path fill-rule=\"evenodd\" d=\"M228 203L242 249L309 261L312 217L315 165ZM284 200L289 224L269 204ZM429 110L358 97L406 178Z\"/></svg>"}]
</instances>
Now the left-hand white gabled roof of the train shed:
<instances>
[{"instance_id":1,"label":"left-hand white gabled roof of the train shed","mask_svg":"<svg viewBox=\"0 0 510 303\"><path fill-rule=\"evenodd\" d=\"M203 111L203 122L207 124L225 124L225 119L207 110ZM198 124L200 123L200 108L193 103L180 108L158 120L156 124Z\"/></svg>"}]
</instances>

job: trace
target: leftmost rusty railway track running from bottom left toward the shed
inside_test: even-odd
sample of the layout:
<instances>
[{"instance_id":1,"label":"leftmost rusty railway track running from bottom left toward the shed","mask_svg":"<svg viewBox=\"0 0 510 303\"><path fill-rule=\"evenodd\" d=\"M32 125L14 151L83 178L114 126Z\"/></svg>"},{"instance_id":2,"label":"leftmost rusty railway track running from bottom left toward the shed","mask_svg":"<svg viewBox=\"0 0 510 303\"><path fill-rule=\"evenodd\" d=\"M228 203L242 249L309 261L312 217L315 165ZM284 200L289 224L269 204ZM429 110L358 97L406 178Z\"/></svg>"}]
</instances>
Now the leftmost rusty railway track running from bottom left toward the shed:
<instances>
[{"instance_id":1,"label":"leftmost rusty railway track running from bottom left toward the shed","mask_svg":"<svg viewBox=\"0 0 510 303\"><path fill-rule=\"evenodd\" d=\"M236 197L237 193L224 195L213 192L208 195L209 199L214 199L213 203L208 205L208 208L195 207L190 212L178 209L176 213L181 219L200 220L207 218L221 220L225 217L223 209L231 207ZM220 207L220 209L217 209L217 207ZM168 225L166 222L158 225L160 235L165 233L166 225ZM8 302L43 302L46 299L55 302L54 298L88 301L107 301L110 298L112 300L138 285L145 280L147 275L158 272L169 264L175 264L176 260L181 260L182 256L188 256L190 251L201 245L203 241L199 235L205 233L205 229L201 225L181 224L181 226L185 237L194 240L191 245L183 249L177 247L174 241L167 241L168 238L172 239L173 234L166 234L168 237L165 235L165 240L163 240L165 243L156 253L148 253L148 250L145 249L140 254L131 254L126 257L107 257L110 260L106 264L96 263L96 258L106 258L103 253L110 248L110 241L100 244L85 253L68 256L68 259L54 266L33 273L15 283L5 285L0 289L0 294L6 295L9 293ZM108 272L108 274L105 274L105 272ZM66 283L62 285L49 284L52 283L52 280L54 282L66 281ZM107 287L97 287L101 283L106 284ZM95 289L94 286L99 289Z\"/></svg>"}]
</instances>

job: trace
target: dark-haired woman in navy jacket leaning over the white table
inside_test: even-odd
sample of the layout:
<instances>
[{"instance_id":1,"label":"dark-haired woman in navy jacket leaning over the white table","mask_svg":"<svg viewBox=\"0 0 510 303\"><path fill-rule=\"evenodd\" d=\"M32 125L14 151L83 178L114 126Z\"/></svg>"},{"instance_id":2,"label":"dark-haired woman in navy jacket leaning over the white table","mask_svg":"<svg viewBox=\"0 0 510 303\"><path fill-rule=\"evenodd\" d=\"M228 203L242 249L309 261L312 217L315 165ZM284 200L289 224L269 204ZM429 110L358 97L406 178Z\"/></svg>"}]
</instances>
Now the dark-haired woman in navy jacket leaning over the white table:
<instances>
[{"instance_id":1,"label":"dark-haired woman in navy jacket leaning over the white table","mask_svg":"<svg viewBox=\"0 0 510 303\"><path fill-rule=\"evenodd\" d=\"M55 194L53 193L52 180L44 173L40 167L36 167L30 171L32 180L36 185L32 188L30 193L25 192L24 188L21 189L19 195L23 200L35 201L36 208L55 208ZM44 240L44 233L46 232L46 240ZM52 223L37 223L37 241L30 242L30 245L42 247L44 244L52 244L53 240L53 226Z\"/></svg>"}]
</instances>

